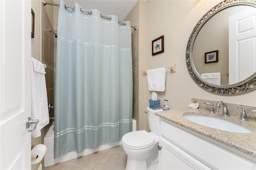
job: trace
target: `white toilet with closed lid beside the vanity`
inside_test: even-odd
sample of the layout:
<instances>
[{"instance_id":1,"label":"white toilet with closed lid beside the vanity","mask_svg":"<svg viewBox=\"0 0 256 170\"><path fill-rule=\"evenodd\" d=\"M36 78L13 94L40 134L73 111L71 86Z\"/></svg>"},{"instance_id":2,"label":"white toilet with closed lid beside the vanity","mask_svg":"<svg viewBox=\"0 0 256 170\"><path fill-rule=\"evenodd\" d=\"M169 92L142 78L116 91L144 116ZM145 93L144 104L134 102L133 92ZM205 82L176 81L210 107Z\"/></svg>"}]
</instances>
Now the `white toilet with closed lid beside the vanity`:
<instances>
[{"instance_id":1,"label":"white toilet with closed lid beside the vanity","mask_svg":"<svg viewBox=\"0 0 256 170\"><path fill-rule=\"evenodd\" d=\"M128 155L126 170L158 169L159 117L148 110L148 123L151 132L132 131L122 137L122 146ZM157 167L156 167L157 166Z\"/></svg>"}]
</instances>

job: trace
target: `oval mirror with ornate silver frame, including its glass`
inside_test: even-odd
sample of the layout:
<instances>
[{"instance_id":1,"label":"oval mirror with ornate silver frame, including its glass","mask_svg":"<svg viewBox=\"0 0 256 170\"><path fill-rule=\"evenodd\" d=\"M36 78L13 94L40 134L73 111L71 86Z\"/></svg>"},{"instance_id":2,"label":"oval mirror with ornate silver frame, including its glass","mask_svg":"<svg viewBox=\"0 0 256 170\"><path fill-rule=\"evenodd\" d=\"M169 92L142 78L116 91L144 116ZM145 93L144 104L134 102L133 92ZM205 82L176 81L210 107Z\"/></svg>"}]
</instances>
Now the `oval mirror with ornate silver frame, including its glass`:
<instances>
[{"instance_id":1,"label":"oval mirror with ornate silver frame, including its glass","mask_svg":"<svg viewBox=\"0 0 256 170\"><path fill-rule=\"evenodd\" d=\"M218 95L256 89L256 0L224 0L196 24L186 65L194 82Z\"/></svg>"}]
</instances>

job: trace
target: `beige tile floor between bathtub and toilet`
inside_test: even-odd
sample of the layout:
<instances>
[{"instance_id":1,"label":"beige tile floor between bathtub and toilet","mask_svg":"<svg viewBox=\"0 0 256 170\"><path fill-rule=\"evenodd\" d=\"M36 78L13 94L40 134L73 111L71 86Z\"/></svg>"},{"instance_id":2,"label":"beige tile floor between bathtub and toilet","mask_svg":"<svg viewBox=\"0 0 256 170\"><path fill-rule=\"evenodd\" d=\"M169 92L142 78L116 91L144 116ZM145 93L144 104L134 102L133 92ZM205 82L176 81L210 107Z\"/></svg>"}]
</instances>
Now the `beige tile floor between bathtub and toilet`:
<instances>
[{"instance_id":1,"label":"beige tile floor between bathtub and toilet","mask_svg":"<svg viewBox=\"0 0 256 170\"><path fill-rule=\"evenodd\" d=\"M122 145L45 167L44 170L125 170L127 154Z\"/></svg>"}]
</instances>

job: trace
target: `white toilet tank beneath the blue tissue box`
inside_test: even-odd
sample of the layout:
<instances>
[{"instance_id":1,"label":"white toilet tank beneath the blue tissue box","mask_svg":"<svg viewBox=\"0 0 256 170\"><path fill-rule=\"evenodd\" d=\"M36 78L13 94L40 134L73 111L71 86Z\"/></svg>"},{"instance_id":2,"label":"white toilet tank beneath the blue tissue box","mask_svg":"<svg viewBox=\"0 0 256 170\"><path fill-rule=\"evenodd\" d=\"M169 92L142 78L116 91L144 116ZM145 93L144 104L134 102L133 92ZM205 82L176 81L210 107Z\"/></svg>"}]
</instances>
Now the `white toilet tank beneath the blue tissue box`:
<instances>
[{"instance_id":1,"label":"white toilet tank beneath the blue tissue box","mask_svg":"<svg viewBox=\"0 0 256 170\"><path fill-rule=\"evenodd\" d=\"M159 133L159 117L156 116L155 113L163 111L163 109L153 110L153 109L149 109L147 107L147 111L148 111L149 129L159 136L160 135L160 133Z\"/></svg>"}]
</instances>

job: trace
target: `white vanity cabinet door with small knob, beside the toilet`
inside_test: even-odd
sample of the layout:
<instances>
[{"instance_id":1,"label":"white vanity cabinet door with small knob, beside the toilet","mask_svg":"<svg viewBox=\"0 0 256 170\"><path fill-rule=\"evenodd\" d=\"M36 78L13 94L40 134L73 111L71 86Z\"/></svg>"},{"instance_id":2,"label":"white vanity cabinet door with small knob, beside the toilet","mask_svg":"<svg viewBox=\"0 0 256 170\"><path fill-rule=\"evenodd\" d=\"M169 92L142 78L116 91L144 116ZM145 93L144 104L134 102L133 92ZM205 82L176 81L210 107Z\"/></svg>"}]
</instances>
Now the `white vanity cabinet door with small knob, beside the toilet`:
<instances>
[{"instance_id":1,"label":"white vanity cabinet door with small knob, beside the toilet","mask_svg":"<svg viewBox=\"0 0 256 170\"><path fill-rule=\"evenodd\" d=\"M171 142L160 137L159 145L162 149L159 153L160 170L200 170L210 169Z\"/></svg>"}]
</instances>

